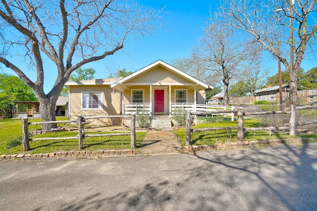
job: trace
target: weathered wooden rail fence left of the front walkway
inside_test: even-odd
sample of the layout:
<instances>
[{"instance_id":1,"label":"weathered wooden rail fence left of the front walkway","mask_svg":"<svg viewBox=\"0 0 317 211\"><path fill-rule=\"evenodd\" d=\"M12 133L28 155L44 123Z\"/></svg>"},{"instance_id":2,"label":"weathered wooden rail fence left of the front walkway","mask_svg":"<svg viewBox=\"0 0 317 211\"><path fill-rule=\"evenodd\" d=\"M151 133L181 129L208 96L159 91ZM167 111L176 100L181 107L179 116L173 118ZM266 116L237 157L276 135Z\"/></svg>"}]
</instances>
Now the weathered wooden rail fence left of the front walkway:
<instances>
[{"instance_id":1,"label":"weathered wooden rail fence left of the front walkway","mask_svg":"<svg viewBox=\"0 0 317 211\"><path fill-rule=\"evenodd\" d=\"M131 133L108 133L108 134L84 134L83 124L87 119L96 119L96 118L131 118ZM77 123L78 124L78 135L74 137L63 137L63 138L29 138L29 124L47 124L47 123ZM49 122L28 122L28 118L22 119L22 143L23 143L23 151L30 150L29 141L39 141L39 140L63 140L63 139L77 139L78 138L78 146L79 149L83 149L83 139L89 137L101 137L101 136L125 136L131 135L131 148L136 147L136 134L135 134L135 114L132 115L107 115L107 116L89 116L83 117L82 115L78 115L77 120L65 120L65 121L49 121Z\"/></svg>"}]
</instances>

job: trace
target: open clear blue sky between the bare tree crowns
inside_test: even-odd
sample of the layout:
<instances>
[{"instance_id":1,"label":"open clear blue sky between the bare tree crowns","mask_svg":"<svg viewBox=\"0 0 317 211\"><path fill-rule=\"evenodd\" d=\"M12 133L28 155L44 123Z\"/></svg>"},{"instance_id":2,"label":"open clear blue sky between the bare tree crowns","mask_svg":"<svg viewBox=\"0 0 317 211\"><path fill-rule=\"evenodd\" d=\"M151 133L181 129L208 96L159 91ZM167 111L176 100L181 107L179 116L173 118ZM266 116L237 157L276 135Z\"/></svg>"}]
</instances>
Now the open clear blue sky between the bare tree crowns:
<instances>
[{"instance_id":1,"label":"open clear blue sky between the bare tree crowns","mask_svg":"<svg viewBox=\"0 0 317 211\"><path fill-rule=\"evenodd\" d=\"M94 68L97 73L95 78L107 78L108 68L136 71L158 59L167 63L178 57L185 57L190 54L194 45L197 45L198 38L203 36L203 29L210 16L210 9L215 10L220 0L139 0L141 5L147 8L164 8L161 13L161 21L165 23L163 29L159 29L154 36L147 36L144 40L138 39L135 43L130 40L125 43L124 52L117 52L107 56L101 61L86 64L84 68ZM302 67L305 71L316 67L316 59L305 60ZM48 62L48 61L45 61ZM271 67L271 74L277 72L277 61L266 62ZM283 68L283 66L282 66ZM15 75L12 70L5 69L4 72ZM36 79L36 72L27 71L31 80ZM56 76L54 71L45 71L45 92L53 87Z\"/></svg>"}]
</instances>

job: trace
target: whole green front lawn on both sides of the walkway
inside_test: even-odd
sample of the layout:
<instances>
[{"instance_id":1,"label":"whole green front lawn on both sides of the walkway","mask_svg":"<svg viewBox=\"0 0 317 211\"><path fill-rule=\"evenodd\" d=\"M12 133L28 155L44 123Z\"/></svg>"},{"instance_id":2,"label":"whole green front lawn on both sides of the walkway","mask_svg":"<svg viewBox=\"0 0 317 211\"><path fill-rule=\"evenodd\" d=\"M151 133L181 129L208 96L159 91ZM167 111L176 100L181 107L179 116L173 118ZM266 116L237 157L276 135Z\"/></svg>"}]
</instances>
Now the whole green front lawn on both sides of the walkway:
<instances>
[{"instance_id":1,"label":"whole green front lawn on both sides of the walkway","mask_svg":"<svg viewBox=\"0 0 317 211\"><path fill-rule=\"evenodd\" d=\"M66 120L66 117L57 117L56 120ZM29 119L30 122L40 122L41 119ZM244 119L244 127L257 127L259 122L257 119ZM59 123L62 126L62 123ZM205 127L236 127L237 122L212 122L202 123L195 125L192 128L205 128ZM36 130L40 125L29 125L29 130ZM127 131L129 133L129 131ZM116 132L86 132L86 134L100 134L100 133L116 133ZM186 131L185 129L174 130L174 133L178 136L181 144L185 145ZM8 147L8 144L12 144L12 140L16 140L22 135L22 120L21 119L3 119L0 120L0 155L19 154L23 153L22 145L12 148ZM74 137L77 135L77 131L61 131L55 133L39 134L32 136L32 138L41 137ZM141 146L146 132L136 133L136 145L137 148ZM317 134L312 135L299 135L297 137L305 137L317 139ZM246 132L245 140L269 140L279 138L290 138L288 131L280 132L278 134L272 133L269 137L268 131L256 131ZM191 141L193 145L211 145L217 143L236 142L237 130L217 130L207 132L195 132L191 134ZM14 144L14 143L13 143ZM84 150L124 150L131 149L130 136L110 136L110 137L90 137L83 141ZM51 153L51 152L63 152L63 151L78 151L78 139L65 139L65 140L42 140L30 142L31 151L30 154L39 153Z\"/></svg>"}]
</instances>

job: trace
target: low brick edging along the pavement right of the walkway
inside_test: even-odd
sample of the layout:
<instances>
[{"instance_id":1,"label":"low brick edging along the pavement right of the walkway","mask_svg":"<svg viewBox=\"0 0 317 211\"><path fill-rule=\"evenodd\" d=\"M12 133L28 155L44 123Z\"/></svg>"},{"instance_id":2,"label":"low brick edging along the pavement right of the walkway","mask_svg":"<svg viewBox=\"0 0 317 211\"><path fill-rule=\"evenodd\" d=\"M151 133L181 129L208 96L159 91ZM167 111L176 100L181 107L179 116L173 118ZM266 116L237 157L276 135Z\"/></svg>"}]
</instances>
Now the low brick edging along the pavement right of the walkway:
<instances>
[{"instance_id":1,"label":"low brick edging along the pavement right of the walkway","mask_svg":"<svg viewBox=\"0 0 317 211\"><path fill-rule=\"evenodd\" d=\"M275 140L261 140L261 141L237 141L225 144L215 144L215 145L198 145L198 146L184 146L184 152L196 152L201 150L226 150L231 148L239 147L256 147L264 144L280 144L280 143L289 143L289 142L304 142L307 141L307 138L289 138L289 139L275 139Z\"/></svg>"}]
</instances>

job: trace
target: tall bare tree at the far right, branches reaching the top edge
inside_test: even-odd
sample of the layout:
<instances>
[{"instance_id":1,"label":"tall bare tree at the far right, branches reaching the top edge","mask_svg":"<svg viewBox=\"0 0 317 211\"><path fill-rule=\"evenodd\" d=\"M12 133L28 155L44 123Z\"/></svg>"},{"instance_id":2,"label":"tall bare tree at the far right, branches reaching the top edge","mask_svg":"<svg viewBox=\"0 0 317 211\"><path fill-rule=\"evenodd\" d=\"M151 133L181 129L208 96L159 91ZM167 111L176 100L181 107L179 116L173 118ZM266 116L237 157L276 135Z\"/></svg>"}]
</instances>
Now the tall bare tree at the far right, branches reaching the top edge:
<instances>
[{"instance_id":1,"label":"tall bare tree at the far right, branches reaching the top edge","mask_svg":"<svg viewBox=\"0 0 317 211\"><path fill-rule=\"evenodd\" d=\"M316 0L224 0L219 15L227 24L252 35L284 64L290 76L290 104L297 105L300 65L308 53L307 45L316 42L316 11Z\"/></svg>"}]
</instances>

